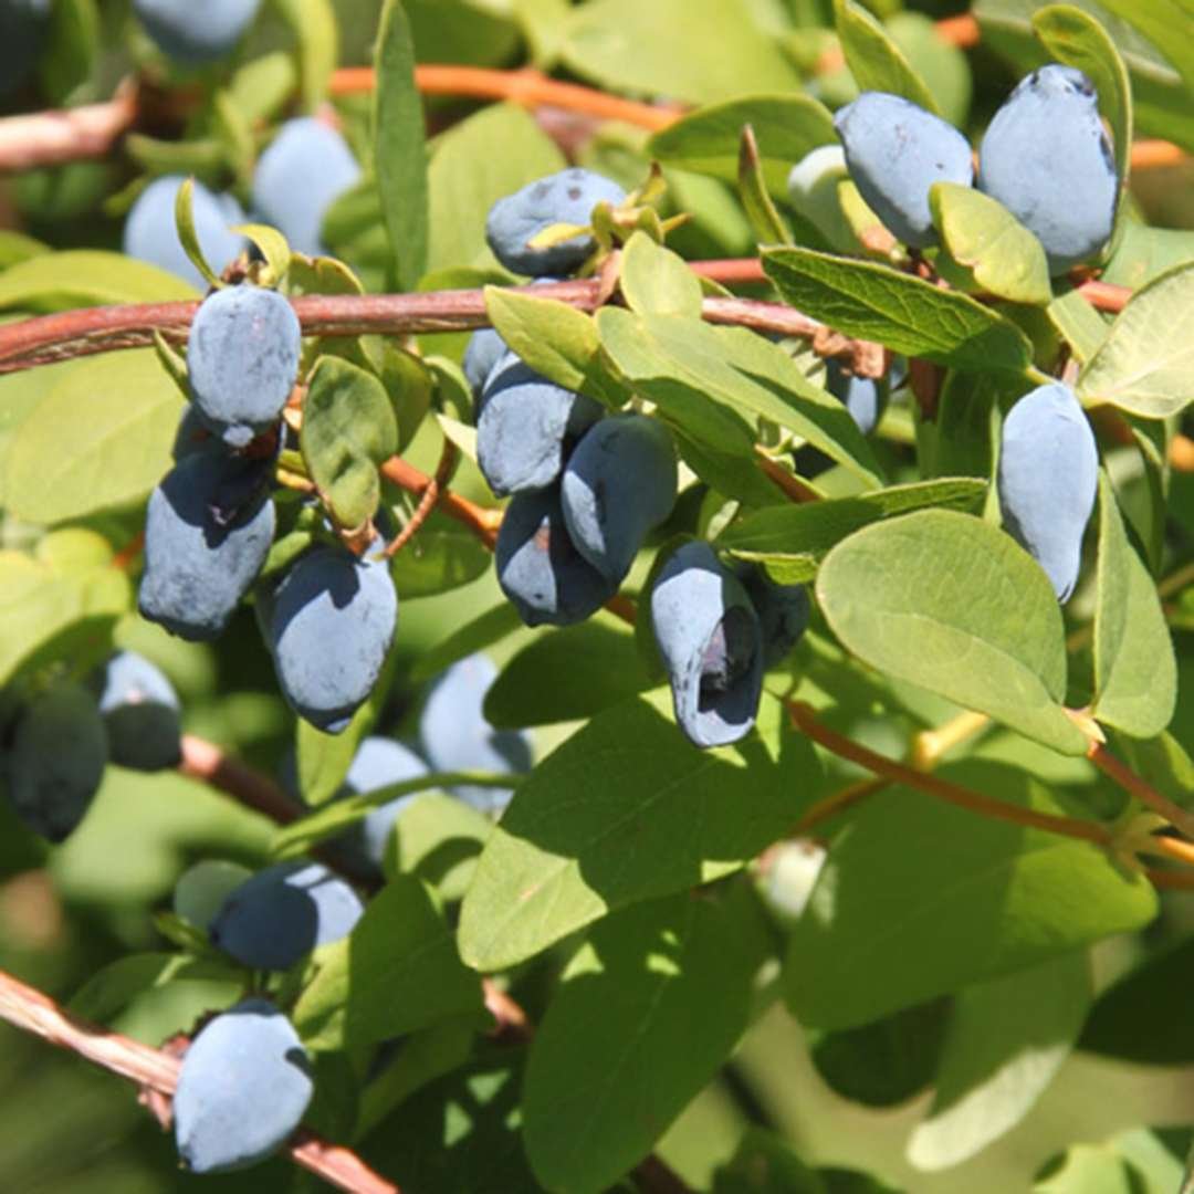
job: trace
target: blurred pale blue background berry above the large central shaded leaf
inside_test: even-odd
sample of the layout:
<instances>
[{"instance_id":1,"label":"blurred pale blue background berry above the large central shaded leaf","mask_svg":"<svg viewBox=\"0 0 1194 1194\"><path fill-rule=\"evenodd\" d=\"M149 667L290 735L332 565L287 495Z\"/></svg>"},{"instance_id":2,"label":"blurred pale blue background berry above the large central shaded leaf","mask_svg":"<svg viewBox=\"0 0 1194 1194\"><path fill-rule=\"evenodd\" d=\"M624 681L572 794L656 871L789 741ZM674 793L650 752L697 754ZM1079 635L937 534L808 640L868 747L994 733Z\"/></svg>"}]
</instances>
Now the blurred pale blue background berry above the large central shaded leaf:
<instances>
[{"instance_id":1,"label":"blurred pale blue background berry above the large central shaded leaf","mask_svg":"<svg viewBox=\"0 0 1194 1194\"><path fill-rule=\"evenodd\" d=\"M488 656L453 664L436 682L419 718L419 740L437 771L529 771L530 739L517 730L494 730L485 716L485 694L498 678ZM461 784L454 796L481 812L510 804L511 788Z\"/></svg>"}]
</instances>

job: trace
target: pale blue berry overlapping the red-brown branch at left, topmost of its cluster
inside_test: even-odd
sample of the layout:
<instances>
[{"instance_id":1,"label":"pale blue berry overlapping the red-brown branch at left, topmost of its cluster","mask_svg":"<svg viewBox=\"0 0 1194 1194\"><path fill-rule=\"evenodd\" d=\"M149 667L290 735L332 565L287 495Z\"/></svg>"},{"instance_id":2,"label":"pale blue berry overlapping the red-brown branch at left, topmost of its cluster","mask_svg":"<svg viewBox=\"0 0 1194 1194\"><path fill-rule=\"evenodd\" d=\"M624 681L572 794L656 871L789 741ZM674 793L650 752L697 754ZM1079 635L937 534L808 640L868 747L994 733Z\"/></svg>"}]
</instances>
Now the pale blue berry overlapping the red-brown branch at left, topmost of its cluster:
<instances>
[{"instance_id":1,"label":"pale blue berry overlapping the red-brown branch at left, topmost of its cluster","mask_svg":"<svg viewBox=\"0 0 1194 1194\"><path fill-rule=\"evenodd\" d=\"M199 417L236 448L267 431L290 396L301 350L298 316L277 290L246 283L209 295L186 341Z\"/></svg>"}]
</instances>

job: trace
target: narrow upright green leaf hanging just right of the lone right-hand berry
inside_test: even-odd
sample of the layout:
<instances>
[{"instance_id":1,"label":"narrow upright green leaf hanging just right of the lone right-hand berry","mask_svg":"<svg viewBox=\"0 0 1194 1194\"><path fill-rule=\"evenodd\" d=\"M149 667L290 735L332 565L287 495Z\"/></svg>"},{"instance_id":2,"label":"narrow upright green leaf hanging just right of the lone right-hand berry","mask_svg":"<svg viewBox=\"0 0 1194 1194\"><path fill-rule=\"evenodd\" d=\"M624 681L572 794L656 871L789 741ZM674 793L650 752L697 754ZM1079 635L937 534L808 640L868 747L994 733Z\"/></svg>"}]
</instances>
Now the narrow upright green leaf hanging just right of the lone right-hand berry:
<instances>
[{"instance_id":1,"label":"narrow upright green leaf hanging just right of the lone right-hand berry","mask_svg":"<svg viewBox=\"0 0 1194 1194\"><path fill-rule=\"evenodd\" d=\"M1132 549L1106 472L1098 474L1098 581L1091 714L1153 738L1177 703L1177 663L1161 598Z\"/></svg>"}]
</instances>

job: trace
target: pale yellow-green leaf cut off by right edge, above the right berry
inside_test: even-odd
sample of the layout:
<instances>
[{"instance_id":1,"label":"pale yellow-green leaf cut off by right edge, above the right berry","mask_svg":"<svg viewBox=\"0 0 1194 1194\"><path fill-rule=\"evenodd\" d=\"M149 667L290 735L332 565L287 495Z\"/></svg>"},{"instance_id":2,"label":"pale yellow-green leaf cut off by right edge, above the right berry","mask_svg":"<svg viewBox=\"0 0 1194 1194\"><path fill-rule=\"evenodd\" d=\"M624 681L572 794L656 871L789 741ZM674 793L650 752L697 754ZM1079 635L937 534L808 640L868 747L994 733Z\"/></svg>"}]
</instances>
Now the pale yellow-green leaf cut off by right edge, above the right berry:
<instances>
[{"instance_id":1,"label":"pale yellow-green leaf cut off by right edge, above the right berry","mask_svg":"<svg viewBox=\"0 0 1194 1194\"><path fill-rule=\"evenodd\" d=\"M1167 419L1194 401L1192 373L1194 261L1132 295L1082 370L1078 394L1084 404L1110 402L1145 419Z\"/></svg>"}]
</instances>

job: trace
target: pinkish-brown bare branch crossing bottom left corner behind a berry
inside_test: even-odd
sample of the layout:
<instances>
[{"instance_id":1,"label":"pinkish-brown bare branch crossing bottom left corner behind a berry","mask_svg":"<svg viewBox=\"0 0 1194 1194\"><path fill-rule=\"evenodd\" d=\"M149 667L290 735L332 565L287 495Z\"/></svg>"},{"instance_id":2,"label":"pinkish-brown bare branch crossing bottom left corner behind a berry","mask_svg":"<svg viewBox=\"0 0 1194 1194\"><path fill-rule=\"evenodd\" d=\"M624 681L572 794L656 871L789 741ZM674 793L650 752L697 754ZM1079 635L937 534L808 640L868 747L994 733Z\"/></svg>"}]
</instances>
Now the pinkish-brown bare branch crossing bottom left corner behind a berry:
<instances>
[{"instance_id":1,"label":"pinkish-brown bare branch crossing bottom left corner behind a berry","mask_svg":"<svg viewBox=\"0 0 1194 1194\"><path fill-rule=\"evenodd\" d=\"M4 971L0 971L0 1018L160 1095L172 1096L178 1085L181 1063L177 1057L75 1016ZM353 1194L401 1194L356 1153L330 1144L314 1132L296 1132L289 1153L297 1164L338 1189Z\"/></svg>"}]
</instances>

